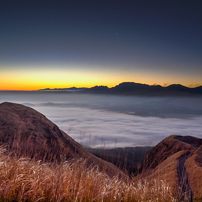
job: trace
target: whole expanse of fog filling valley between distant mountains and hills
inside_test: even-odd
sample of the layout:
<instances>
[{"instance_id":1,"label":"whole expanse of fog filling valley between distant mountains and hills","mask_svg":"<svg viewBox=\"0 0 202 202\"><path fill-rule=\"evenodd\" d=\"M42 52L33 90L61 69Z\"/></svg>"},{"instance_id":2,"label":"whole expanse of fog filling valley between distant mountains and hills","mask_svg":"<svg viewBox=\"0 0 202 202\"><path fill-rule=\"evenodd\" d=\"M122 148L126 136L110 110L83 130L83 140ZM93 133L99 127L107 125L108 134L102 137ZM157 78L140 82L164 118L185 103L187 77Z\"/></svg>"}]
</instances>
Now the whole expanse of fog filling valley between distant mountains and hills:
<instances>
[{"instance_id":1,"label":"whole expanse of fog filling valley between distant mountains and hills","mask_svg":"<svg viewBox=\"0 0 202 202\"><path fill-rule=\"evenodd\" d=\"M84 146L154 146L172 134L202 138L201 97L0 92L5 101L38 110Z\"/></svg>"}]
</instances>

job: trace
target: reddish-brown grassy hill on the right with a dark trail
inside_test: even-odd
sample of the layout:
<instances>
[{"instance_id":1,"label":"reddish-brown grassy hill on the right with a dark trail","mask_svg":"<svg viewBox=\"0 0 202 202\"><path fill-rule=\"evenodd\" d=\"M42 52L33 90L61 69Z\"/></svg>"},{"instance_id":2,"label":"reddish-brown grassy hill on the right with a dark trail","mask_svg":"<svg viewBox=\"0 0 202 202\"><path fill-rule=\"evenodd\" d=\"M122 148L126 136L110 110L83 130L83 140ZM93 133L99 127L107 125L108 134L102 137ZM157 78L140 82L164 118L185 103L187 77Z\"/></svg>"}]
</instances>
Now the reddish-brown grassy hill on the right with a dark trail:
<instances>
[{"instance_id":1,"label":"reddish-brown grassy hill on the right with a dark trail","mask_svg":"<svg viewBox=\"0 0 202 202\"><path fill-rule=\"evenodd\" d=\"M166 180L180 200L202 200L202 139L172 135L146 155L138 178Z\"/></svg>"}]
</instances>

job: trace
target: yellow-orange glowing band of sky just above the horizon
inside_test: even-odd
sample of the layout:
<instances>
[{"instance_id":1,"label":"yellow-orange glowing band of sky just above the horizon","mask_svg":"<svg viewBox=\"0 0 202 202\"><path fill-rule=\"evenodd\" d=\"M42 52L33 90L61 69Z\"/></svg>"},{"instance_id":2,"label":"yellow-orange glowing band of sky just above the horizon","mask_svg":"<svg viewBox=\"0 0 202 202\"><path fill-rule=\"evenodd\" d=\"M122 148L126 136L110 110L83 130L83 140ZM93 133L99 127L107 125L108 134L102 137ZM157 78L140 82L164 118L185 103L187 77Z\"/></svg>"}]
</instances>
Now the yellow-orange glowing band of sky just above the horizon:
<instances>
[{"instance_id":1,"label":"yellow-orange glowing band of sky just above the horizon","mask_svg":"<svg viewBox=\"0 0 202 202\"><path fill-rule=\"evenodd\" d=\"M177 82L176 82L177 81ZM191 82L192 81L192 82ZM33 91L45 88L71 88L71 87L93 87L108 86L114 87L122 82L136 82L149 85L168 86L170 84L182 84L188 87L197 87L202 85L200 79L194 80L178 75L170 76L143 71L92 71L92 70L62 70L60 68L36 70L6 71L0 74L0 90L10 91Z\"/></svg>"}]
</instances>

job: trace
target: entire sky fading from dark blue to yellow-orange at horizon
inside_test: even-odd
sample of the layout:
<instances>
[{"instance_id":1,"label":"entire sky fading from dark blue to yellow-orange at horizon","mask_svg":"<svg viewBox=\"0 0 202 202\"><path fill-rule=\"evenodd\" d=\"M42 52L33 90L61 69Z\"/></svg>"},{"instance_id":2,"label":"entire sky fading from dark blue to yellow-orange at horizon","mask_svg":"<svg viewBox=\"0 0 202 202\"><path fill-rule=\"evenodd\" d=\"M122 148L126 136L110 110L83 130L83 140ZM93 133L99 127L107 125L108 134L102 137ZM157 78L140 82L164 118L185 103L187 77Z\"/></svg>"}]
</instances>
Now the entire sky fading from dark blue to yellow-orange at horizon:
<instances>
[{"instance_id":1,"label":"entire sky fading from dark blue to yellow-orange at horizon","mask_svg":"<svg viewBox=\"0 0 202 202\"><path fill-rule=\"evenodd\" d=\"M202 85L201 0L0 3L0 90Z\"/></svg>"}]
</instances>

